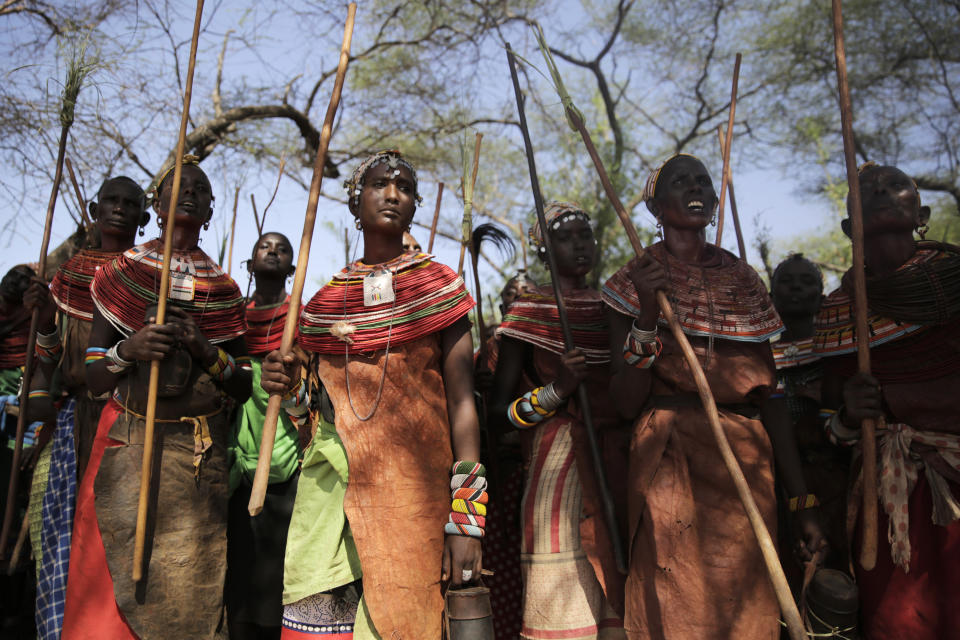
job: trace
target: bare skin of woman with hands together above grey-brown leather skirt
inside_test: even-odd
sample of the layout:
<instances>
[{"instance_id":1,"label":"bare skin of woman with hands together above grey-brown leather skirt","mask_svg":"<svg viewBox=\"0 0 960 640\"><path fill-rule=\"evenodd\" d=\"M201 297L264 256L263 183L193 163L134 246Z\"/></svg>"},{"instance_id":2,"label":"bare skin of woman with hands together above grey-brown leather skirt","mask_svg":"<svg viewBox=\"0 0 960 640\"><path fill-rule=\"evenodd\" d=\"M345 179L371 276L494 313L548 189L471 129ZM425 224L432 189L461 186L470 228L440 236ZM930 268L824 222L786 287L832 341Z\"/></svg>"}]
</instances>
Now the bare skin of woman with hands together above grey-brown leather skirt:
<instances>
[{"instance_id":1,"label":"bare skin of woman with hands together above grey-brown leather skirt","mask_svg":"<svg viewBox=\"0 0 960 640\"><path fill-rule=\"evenodd\" d=\"M169 219L168 207L172 196L172 173L160 185L159 199L156 204L157 216L164 222L160 239L165 240L166 222ZM196 165L184 165L180 181L180 194L177 199L175 227L173 235L174 250L196 249L200 240L200 230L213 215L213 192L206 174ZM193 317L175 305L167 305L167 317L164 324L154 324L156 318L148 318L140 330L123 340L118 347L118 355L124 360L153 361L162 360L169 355L176 344L182 345L193 357L194 362L206 369L217 359L217 347L210 344ZM90 333L90 346L109 348L122 340L123 336L104 318L98 310L93 314L93 329ZM246 354L243 338L235 338L221 345L224 351L233 357ZM107 371L106 359L87 367L87 386L95 395L112 391L117 383L127 375L113 374ZM251 374L237 367L233 375L221 384L221 389L238 403L250 397ZM139 406L146 405L146 389L136 389ZM183 415L185 402L182 398L163 398L158 401L158 416Z\"/></svg>"}]
</instances>

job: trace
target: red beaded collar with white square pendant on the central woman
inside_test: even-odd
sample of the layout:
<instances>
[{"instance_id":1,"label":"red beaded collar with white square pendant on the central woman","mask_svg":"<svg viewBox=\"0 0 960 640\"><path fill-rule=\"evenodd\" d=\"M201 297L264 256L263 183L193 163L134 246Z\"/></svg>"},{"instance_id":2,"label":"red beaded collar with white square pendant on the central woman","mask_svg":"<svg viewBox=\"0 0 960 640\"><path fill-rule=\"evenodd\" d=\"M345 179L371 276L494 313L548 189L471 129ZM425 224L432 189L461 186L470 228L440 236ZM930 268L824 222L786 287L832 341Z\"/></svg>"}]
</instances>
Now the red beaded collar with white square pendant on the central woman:
<instances>
[{"instance_id":1,"label":"red beaded collar with white square pendant on the central woman","mask_svg":"<svg viewBox=\"0 0 960 640\"><path fill-rule=\"evenodd\" d=\"M300 315L299 344L342 355L413 342L452 325L473 308L463 279L425 253L404 253L378 265L354 262L313 296ZM364 306L364 277L389 269L394 302ZM340 337L338 337L340 336ZM348 346L349 345L349 346Z\"/></svg>"}]
</instances>

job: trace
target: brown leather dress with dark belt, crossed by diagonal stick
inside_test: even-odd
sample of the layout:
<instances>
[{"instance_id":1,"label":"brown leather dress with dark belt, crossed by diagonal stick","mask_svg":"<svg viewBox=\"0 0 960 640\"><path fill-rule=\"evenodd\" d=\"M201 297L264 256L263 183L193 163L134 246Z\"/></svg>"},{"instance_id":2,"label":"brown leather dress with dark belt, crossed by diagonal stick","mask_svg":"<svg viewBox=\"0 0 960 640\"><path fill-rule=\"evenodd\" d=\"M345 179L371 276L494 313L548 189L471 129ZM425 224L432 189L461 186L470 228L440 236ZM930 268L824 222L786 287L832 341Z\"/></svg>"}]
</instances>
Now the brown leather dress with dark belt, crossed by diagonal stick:
<instances>
[{"instance_id":1,"label":"brown leather dress with dark belt, crossed by diagonal stick","mask_svg":"<svg viewBox=\"0 0 960 640\"><path fill-rule=\"evenodd\" d=\"M672 335L661 334L652 394L696 390ZM719 404L759 401L775 384L768 343L691 339ZM709 365L709 366L706 366ZM771 535L773 452L762 423L720 411L721 424ZM630 638L779 637L779 608L759 546L703 409L648 408L630 446Z\"/></svg>"}]
</instances>

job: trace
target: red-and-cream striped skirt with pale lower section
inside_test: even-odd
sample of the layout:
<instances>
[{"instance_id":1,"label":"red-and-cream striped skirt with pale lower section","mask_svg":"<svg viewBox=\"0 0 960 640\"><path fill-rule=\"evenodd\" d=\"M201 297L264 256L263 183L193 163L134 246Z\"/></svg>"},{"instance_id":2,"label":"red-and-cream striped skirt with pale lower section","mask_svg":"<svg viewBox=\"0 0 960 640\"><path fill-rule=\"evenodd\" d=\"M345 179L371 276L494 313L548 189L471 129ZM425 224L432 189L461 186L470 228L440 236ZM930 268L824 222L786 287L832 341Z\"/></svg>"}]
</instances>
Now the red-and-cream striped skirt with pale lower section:
<instances>
[{"instance_id":1,"label":"red-and-cream striped skirt with pale lower section","mask_svg":"<svg viewBox=\"0 0 960 640\"><path fill-rule=\"evenodd\" d=\"M523 496L522 638L625 638L580 545L583 511L569 417L537 427Z\"/></svg>"}]
</instances>

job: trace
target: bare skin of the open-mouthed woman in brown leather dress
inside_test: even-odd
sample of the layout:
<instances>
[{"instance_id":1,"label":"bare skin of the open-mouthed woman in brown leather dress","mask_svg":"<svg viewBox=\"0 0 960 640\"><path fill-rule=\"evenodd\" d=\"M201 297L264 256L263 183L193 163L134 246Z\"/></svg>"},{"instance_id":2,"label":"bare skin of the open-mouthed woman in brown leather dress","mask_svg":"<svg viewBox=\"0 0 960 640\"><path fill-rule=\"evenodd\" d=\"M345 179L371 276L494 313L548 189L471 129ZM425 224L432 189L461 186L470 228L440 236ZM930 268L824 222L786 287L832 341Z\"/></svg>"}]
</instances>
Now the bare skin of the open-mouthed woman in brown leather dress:
<instances>
[{"instance_id":1,"label":"bare skin of the open-mouthed woman in brown leather dress","mask_svg":"<svg viewBox=\"0 0 960 640\"><path fill-rule=\"evenodd\" d=\"M663 243L675 258L689 264L707 262L716 249L706 242L706 227L710 224L717 204L713 181L703 163L695 158L681 156L663 168L657 183L656 196L648 203L650 211L663 226ZM657 291L668 291L669 279L663 267L649 254L632 264L630 280L637 290L641 313L636 318L608 310L610 322L610 350L620 353L631 325L636 322L642 330L656 328L660 311ZM690 338L697 346L705 340ZM623 358L611 360L611 397L620 416L636 420L650 395L653 369L629 366ZM763 425L770 437L777 471L791 496L805 494L806 484L800 465L786 404L783 398L769 398L760 407ZM801 561L809 561L813 554L826 545L817 509L806 509L796 514L798 541L795 552Z\"/></svg>"}]
</instances>

